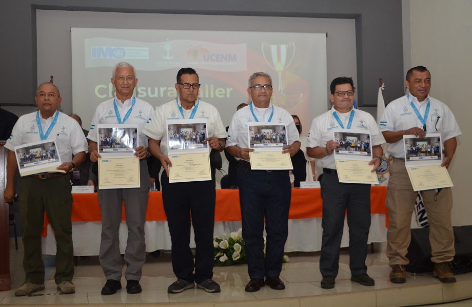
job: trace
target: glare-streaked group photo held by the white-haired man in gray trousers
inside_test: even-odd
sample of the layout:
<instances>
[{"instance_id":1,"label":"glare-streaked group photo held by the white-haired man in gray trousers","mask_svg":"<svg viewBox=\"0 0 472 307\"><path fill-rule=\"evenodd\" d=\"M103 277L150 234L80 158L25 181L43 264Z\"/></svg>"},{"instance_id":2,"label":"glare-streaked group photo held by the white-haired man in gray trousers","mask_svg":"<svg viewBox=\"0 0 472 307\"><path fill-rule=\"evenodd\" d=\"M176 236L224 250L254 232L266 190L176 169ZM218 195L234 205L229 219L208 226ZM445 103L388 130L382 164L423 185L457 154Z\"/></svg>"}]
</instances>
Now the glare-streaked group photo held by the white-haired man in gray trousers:
<instances>
[{"instance_id":1,"label":"glare-streaked group photo held by the white-haired man in gray trousers","mask_svg":"<svg viewBox=\"0 0 472 307\"><path fill-rule=\"evenodd\" d=\"M97 147L102 158L134 157L139 147L136 124L101 124L96 126Z\"/></svg>"}]
</instances>

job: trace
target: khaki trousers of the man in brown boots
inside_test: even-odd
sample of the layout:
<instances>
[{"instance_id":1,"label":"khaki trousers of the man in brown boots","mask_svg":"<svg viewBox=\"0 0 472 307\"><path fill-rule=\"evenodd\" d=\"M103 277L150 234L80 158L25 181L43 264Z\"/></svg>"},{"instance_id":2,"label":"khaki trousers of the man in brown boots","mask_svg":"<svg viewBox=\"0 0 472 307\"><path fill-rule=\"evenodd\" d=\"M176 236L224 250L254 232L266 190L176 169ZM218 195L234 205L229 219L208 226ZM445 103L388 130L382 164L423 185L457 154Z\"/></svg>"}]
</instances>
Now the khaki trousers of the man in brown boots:
<instances>
[{"instance_id":1,"label":"khaki trousers of the man in brown boots","mask_svg":"<svg viewBox=\"0 0 472 307\"><path fill-rule=\"evenodd\" d=\"M409 263L406 254L411 240L411 216L415 207L417 192L411 186L403 159L394 158L390 168L387 186L388 231L387 257L390 266ZM441 263L452 261L454 250L454 231L451 225L453 196L450 188L423 190L424 207L429 223L429 243L431 261Z\"/></svg>"}]
</instances>

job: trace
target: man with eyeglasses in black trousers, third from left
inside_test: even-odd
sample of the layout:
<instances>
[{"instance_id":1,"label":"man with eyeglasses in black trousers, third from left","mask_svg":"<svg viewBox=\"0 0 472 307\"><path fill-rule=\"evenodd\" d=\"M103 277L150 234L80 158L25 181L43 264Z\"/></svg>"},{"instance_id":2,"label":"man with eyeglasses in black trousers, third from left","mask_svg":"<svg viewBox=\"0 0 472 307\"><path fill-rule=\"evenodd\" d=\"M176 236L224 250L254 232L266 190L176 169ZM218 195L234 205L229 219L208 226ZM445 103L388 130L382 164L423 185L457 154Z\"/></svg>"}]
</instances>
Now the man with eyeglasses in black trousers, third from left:
<instances>
[{"instance_id":1,"label":"man with eyeglasses in black trousers, third from left","mask_svg":"<svg viewBox=\"0 0 472 307\"><path fill-rule=\"evenodd\" d=\"M208 181L169 183L167 157L168 120L206 119L207 137L203 140L217 150L225 149L227 137L225 126L217 108L198 99L199 75L192 68L182 68L177 73L176 100L160 106L152 115L143 133L149 139L149 149L158 158L165 172L161 176L162 200L172 241L172 268L177 280L168 288L168 293L179 293L195 286L206 292L220 292L220 285L213 277L213 224L215 207L215 179L212 169ZM199 191L198 193L195 193ZM195 234L195 261L190 250L190 216ZM195 271L195 272L194 272Z\"/></svg>"}]
</instances>

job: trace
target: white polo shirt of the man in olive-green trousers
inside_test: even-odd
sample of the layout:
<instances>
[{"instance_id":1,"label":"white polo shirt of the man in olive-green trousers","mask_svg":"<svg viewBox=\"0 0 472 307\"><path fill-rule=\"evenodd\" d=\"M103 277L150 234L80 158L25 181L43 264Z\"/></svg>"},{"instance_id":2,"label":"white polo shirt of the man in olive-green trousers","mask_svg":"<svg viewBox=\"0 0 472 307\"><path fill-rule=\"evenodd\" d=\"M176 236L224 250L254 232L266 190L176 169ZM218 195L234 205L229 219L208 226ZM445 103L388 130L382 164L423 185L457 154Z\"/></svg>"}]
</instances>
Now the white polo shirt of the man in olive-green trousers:
<instances>
[{"instance_id":1,"label":"white polo shirt of the man in olive-green trousers","mask_svg":"<svg viewBox=\"0 0 472 307\"><path fill-rule=\"evenodd\" d=\"M38 112L40 111L25 114L18 119L11 131L10 139L5 144L5 148L14 151L15 146L41 141L40 130L36 122L36 114ZM39 113L43 133L46 133L49 129L56 113L59 113L57 122L51 129L47 139L55 140L61 162L70 162L72 161L72 155L87 151L87 140L78 123L73 118L57 110L47 120L43 119L41 112Z\"/></svg>"}]
</instances>

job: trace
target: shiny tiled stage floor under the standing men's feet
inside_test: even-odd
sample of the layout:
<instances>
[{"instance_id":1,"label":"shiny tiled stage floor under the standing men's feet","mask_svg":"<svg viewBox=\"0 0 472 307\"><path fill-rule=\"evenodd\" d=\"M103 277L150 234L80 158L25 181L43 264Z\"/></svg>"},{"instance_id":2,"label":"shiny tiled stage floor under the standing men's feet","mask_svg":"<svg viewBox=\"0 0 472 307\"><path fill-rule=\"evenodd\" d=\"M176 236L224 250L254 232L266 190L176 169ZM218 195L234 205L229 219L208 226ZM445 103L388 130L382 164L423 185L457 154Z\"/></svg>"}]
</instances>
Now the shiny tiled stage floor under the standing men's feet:
<instances>
[{"instance_id":1,"label":"shiny tiled stage floor under the standing men's feet","mask_svg":"<svg viewBox=\"0 0 472 307\"><path fill-rule=\"evenodd\" d=\"M375 253L368 255L368 274L375 279L375 286L363 286L349 280L349 255L343 249L340 258L340 273L333 289L321 289L319 272L320 253L290 253L290 262L285 263L281 279L286 289L276 291L265 286L259 292L247 293L244 286L249 281L247 265L215 267L214 280L220 283L221 293L210 294L201 289L190 289L180 294L168 294L167 286L175 280L170 263L170 254L159 258L148 255L143 268L140 294L127 294L123 289L117 294L100 294L105 278L97 256L81 258L75 268L73 282L76 293L57 294L54 284L54 257L45 257L47 266L46 290L29 297L15 297L14 290L24 281L22 268L22 244L15 251L11 242L10 262L12 290L0 292L0 304L17 305L187 305L187 306L405 306L426 303L442 303L472 297L472 273L458 275L455 284L442 284L429 274L408 275L405 284L394 284L388 280L390 268L385 256L385 243L375 244ZM122 284L126 285L124 278ZM447 303L442 306L472 306L472 300Z\"/></svg>"}]
</instances>

